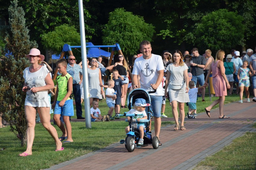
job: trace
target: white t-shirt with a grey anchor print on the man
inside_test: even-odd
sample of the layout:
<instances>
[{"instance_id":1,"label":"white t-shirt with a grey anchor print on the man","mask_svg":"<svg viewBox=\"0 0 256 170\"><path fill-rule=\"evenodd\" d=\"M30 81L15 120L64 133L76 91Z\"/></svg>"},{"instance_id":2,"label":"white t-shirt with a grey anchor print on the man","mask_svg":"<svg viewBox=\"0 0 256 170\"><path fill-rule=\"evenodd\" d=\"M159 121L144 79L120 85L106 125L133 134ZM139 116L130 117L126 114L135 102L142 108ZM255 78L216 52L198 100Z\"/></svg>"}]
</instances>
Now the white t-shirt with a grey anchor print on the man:
<instances>
[{"instance_id":1,"label":"white t-shirt with a grey anchor print on the man","mask_svg":"<svg viewBox=\"0 0 256 170\"><path fill-rule=\"evenodd\" d=\"M135 60L133 66L133 74L140 76L141 88L146 91L154 91L151 84L155 84L158 78L158 71L164 70L163 60L161 56L152 54L150 59L144 59L143 56ZM163 96L162 83L157 88L154 96Z\"/></svg>"}]
</instances>

